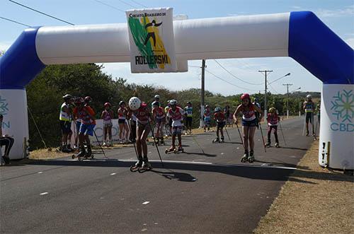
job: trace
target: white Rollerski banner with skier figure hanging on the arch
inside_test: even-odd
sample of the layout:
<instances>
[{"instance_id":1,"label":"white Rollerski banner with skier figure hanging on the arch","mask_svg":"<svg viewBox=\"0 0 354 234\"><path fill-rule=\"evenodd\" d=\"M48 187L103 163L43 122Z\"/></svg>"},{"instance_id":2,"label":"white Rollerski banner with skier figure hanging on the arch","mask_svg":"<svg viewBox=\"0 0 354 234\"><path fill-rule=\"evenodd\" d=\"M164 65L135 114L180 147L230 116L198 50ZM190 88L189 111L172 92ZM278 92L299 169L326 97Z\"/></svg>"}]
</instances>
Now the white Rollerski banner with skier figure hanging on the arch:
<instances>
[{"instance_id":1,"label":"white Rollerski banner with skier figure hanging on the arch","mask_svg":"<svg viewBox=\"0 0 354 234\"><path fill-rule=\"evenodd\" d=\"M132 73L176 72L173 9L126 11Z\"/></svg>"}]
</instances>

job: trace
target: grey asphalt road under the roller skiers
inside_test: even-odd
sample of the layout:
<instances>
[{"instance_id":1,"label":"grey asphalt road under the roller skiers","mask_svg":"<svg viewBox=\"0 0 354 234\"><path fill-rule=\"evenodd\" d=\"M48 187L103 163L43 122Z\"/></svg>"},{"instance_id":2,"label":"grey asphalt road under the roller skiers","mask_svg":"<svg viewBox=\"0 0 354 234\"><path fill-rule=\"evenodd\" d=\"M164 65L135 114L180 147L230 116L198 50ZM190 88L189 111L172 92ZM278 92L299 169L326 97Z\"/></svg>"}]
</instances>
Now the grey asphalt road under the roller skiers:
<instances>
[{"instance_id":1,"label":"grey asphalt road under the roller skiers","mask_svg":"<svg viewBox=\"0 0 354 234\"><path fill-rule=\"evenodd\" d=\"M267 153L256 131L252 164L240 162L239 134L228 129L233 142L212 144L215 133L207 132L184 136L185 153L166 155L168 146L159 146L164 168L149 146L150 172L130 172L136 161L131 147L106 150L108 160L97 151L95 160L1 167L0 231L251 233L312 144L312 137L302 136L303 122L282 122L287 145L279 131L283 147Z\"/></svg>"}]
</instances>

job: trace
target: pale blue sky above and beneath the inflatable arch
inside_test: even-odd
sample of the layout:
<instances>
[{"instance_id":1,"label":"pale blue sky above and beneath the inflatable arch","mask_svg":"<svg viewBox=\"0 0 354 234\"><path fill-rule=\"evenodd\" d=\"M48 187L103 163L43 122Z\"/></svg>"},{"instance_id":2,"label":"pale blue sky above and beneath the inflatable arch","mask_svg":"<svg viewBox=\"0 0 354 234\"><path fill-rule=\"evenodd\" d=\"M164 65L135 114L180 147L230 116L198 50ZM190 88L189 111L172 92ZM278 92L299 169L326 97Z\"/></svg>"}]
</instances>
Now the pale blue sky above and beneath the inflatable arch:
<instances>
[{"instance_id":1,"label":"pale blue sky above and beneath the inflatable arch","mask_svg":"<svg viewBox=\"0 0 354 234\"><path fill-rule=\"evenodd\" d=\"M313 11L321 21L333 30L348 45L354 48L354 1L350 0L15 0L38 11L50 14L69 23L102 24L126 23L124 11L131 8L172 7L175 15L188 18L215 18L225 16L255 15L263 13L284 13L290 11ZM110 6L107 6L110 5ZM18 6L8 0L0 0L0 17L9 18L30 26L67 25L62 21L43 16L35 11ZM27 28L0 18L0 50L6 50L18 35ZM290 73L268 86L271 93L286 93L283 83L292 83L289 90L321 91L321 81L289 57L267 57L246 59L218 59L217 62L238 78L251 83L264 83L264 75L258 70L273 70L268 81ZM206 61L205 89L212 93L234 95L238 93L264 93L264 85L249 85L227 73L214 60ZM105 63L105 73L113 78L126 78L128 83L163 86L170 90L200 88L201 61L188 62L189 71L176 74L131 74L128 63ZM223 78L219 80L212 74ZM230 85L232 83L233 85Z\"/></svg>"}]
</instances>

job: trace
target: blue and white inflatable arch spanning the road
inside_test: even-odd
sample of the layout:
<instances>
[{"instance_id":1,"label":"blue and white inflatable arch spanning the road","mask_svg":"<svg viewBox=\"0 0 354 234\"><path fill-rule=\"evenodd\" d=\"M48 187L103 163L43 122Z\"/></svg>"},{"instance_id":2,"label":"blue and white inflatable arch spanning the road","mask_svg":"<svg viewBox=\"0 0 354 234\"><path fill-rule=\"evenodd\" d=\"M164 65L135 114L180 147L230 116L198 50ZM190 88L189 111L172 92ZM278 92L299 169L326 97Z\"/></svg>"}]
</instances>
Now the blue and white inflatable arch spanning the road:
<instances>
[{"instance_id":1,"label":"blue and white inflatable arch spanning the road","mask_svg":"<svg viewBox=\"0 0 354 234\"><path fill-rule=\"evenodd\" d=\"M354 169L353 49L314 13L202 18L173 23L176 57L292 57L323 82L319 164ZM28 28L0 60L4 132L23 158L28 139L25 86L49 64L130 62L127 24Z\"/></svg>"}]
</instances>

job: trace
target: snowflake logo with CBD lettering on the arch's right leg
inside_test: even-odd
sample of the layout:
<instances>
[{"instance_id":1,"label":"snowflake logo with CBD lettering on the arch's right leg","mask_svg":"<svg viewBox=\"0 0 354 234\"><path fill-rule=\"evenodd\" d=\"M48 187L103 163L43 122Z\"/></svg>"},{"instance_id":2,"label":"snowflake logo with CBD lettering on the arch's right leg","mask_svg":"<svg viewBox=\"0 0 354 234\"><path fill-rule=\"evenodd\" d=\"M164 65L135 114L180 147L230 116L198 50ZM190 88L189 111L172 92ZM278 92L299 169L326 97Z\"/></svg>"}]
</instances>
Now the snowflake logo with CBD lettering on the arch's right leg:
<instances>
[{"instance_id":1,"label":"snowflake logo with CBD lettering on the arch's right leg","mask_svg":"<svg viewBox=\"0 0 354 234\"><path fill-rule=\"evenodd\" d=\"M332 131L354 131L352 119L354 117L353 90L338 91L331 101L332 115L336 116L336 122L331 123Z\"/></svg>"}]
</instances>

